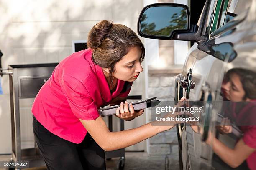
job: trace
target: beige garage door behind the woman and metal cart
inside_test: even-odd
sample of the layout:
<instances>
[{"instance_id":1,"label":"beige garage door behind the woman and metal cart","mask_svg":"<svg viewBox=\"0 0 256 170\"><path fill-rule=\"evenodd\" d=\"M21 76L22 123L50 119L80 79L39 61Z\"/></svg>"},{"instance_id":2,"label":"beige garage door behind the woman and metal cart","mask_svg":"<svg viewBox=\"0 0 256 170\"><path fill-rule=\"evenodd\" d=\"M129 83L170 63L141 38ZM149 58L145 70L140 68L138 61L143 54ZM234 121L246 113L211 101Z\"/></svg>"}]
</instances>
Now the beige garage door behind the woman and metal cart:
<instances>
[{"instance_id":1,"label":"beige garage door behind the woman and metal cart","mask_svg":"<svg viewBox=\"0 0 256 170\"><path fill-rule=\"evenodd\" d=\"M100 20L113 20L137 32L142 8L143 0L0 0L2 66L59 62L72 53L72 40L87 39L90 28ZM144 96L143 80L143 75L136 80L131 94ZM8 76L3 76L2 84L0 153L10 153ZM21 121L31 121L32 102L21 102ZM30 132L22 140L31 145L31 129L21 129Z\"/></svg>"}]
</instances>

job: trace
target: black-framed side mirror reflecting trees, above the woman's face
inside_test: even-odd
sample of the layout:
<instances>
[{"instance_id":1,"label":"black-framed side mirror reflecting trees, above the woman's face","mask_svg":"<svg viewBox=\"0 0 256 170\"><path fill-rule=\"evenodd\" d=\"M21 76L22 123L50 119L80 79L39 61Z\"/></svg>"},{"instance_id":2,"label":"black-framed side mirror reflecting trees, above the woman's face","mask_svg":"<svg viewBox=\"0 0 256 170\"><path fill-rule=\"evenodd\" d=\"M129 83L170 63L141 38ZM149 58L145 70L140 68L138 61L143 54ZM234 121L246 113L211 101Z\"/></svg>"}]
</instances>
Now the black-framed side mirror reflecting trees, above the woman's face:
<instances>
[{"instance_id":1,"label":"black-framed side mirror reflecting trees, above the woman's face","mask_svg":"<svg viewBox=\"0 0 256 170\"><path fill-rule=\"evenodd\" d=\"M174 32L188 32L189 8L175 3L157 3L143 8L138 19L141 37L170 40Z\"/></svg>"}]
</instances>

